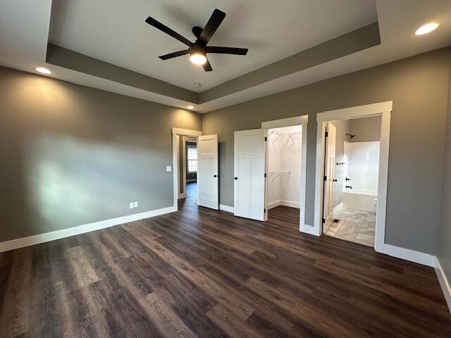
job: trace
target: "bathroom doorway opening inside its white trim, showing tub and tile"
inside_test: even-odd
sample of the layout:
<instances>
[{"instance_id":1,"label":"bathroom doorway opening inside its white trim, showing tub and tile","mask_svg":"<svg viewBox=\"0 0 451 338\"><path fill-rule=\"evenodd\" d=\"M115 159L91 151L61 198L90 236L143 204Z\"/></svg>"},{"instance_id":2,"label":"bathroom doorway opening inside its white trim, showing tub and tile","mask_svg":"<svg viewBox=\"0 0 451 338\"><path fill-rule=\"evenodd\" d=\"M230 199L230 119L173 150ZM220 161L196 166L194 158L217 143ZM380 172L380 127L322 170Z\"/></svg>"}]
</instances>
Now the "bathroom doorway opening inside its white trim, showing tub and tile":
<instances>
[{"instance_id":1,"label":"bathroom doorway opening inside its white trim, showing tub and tile","mask_svg":"<svg viewBox=\"0 0 451 338\"><path fill-rule=\"evenodd\" d=\"M323 234L374 246L381 116L326 124Z\"/></svg>"}]
</instances>

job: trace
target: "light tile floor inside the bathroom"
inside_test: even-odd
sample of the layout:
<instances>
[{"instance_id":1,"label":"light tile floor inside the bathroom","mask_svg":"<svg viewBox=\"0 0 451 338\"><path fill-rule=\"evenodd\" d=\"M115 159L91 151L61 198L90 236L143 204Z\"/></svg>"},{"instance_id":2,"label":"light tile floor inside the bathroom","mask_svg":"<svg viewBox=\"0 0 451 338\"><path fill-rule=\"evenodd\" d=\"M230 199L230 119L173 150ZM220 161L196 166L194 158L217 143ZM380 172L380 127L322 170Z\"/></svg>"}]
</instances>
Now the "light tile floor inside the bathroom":
<instances>
[{"instance_id":1,"label":"light tile floor inside the bathroom","mask_svg":"<svg viewBox=\"0 0 451 338\"><path fill-rule=\"evenodd\" d=\"M334 218L339 220L338 223L332 222ZM326 231L328 236L344 239L348 242L374 246L376 213L342 209L326 220L327 225L329 225Z\"/></svg>"}]
</instances>

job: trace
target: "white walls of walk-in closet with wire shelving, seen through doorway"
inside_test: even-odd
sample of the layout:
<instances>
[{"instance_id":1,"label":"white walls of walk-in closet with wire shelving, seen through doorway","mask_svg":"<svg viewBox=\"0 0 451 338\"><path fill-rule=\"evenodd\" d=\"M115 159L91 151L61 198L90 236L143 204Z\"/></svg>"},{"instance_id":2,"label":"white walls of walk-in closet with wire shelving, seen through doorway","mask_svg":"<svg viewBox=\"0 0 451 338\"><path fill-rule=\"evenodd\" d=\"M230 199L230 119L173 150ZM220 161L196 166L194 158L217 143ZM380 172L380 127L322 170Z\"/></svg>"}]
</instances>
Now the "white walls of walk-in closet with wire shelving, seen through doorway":
<instances>
[{"instance_id":1,"label":"white walls of walk-in closet with wire shelving, seen through doorway","mask_svg":"<svg viewBox=\"0 0 451 338\"><path fill-rule=\"evenodd\" d=\"M300 208L302 126L268 130L268 209Z\"/></svg>"}]
</instances>

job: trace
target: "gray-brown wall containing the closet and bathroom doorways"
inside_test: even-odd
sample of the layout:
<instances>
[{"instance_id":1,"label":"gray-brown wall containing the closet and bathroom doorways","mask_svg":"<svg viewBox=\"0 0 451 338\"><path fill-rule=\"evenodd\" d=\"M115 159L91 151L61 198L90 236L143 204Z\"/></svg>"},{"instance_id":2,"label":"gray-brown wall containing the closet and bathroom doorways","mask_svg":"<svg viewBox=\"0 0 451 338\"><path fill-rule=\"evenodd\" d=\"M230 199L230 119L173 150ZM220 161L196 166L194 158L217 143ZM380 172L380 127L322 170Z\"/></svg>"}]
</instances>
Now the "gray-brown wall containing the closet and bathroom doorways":
<instances>
[{"instance_id":1,"label":"gray-brown wall containing the closet and bathroom doorways","mask_svg":"<svg viewBox=\"0 0 451 338\"><path fill-rule=\"evenodd\" d=\"M432 51L206 113L218 134L220 203L233 206L233 131L309 114L307 224L314 223L316 113L393 101L385 242L426 253L438 242L450 48Z\"/></svg>"}]
</instances>

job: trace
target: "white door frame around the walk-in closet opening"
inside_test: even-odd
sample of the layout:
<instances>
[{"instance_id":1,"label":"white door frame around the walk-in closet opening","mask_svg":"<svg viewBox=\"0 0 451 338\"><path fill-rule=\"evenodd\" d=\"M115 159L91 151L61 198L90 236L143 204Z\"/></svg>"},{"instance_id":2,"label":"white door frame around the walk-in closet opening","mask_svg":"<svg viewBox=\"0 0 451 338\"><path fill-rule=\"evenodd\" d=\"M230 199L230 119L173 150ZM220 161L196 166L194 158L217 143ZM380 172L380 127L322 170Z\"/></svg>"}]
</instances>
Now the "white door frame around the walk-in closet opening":
<instances>
[{"instance_id":1,"label":"white door frame around the walk-in closet opening","mask_svg":"<svg viewBox=\"0 0 451 338\"><path fill-rule=\"evenodd\" d=\"M299 231L306 232L305 225L305 189L307 182L307 124L309 123L309 115L295 116L294 118L281 118L279 120L265 121L261 123L261 128L268 131L268 129L291 127L292 125L302 125L302 145L301 145L301 196L299 199ZM265 173L268 173L268 142L265 144ZM266 175L267 176L267 175ZM268 219L268 189L267 180L265 180L265 220ZM307 227L311 227L307 225Z\"/></svg>"}]
</instances>

